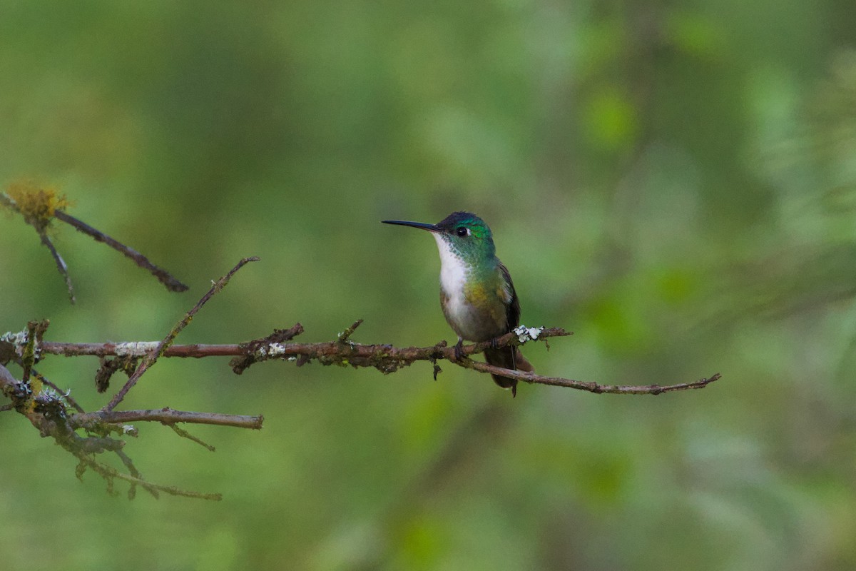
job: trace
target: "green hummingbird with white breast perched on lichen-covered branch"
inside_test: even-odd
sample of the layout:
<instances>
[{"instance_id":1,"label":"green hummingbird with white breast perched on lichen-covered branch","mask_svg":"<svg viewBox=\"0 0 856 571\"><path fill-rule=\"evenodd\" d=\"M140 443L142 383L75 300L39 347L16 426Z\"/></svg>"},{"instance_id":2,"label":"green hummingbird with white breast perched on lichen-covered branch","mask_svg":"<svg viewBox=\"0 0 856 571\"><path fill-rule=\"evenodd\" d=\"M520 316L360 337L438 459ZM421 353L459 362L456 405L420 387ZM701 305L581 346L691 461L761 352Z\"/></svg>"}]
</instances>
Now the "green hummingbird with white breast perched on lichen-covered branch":
<instances>
[{"instance_id":1,"label":"green hummingbird with white breast perched on lichen-covered branch","mask_svg":"<svg viewBox=\"0 0 856 571\"><path fill-rule=\"evenodd\" d=\"M428 230L440 251L440 306L458 335L455 357L463 342L484 342L505 335L520 324L520 300L511 275L496 258L493 236L484 220L470 212L452 212L436 224L383 220ZM484 360L505 369L532 371L532 364L516 347L488 348ZM517 379L491 375L503 389L517 396Z\"/></svg>"}]
</instances>

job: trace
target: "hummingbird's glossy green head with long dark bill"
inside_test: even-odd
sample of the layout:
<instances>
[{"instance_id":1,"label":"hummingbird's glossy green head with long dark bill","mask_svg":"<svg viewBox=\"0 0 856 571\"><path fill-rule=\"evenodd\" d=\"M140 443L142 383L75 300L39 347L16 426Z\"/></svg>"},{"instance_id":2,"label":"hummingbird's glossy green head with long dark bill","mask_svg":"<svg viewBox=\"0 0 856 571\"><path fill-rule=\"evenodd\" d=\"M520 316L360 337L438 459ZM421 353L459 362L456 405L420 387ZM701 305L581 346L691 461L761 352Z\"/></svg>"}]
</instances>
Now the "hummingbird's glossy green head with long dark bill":
<instances>
[{"instance_id":1,"label":"hummingbird's glossy green head with long dark bill","mask_svg":"<svg viewBox=\"0 0 856 571\"><path fill-rule=\"evenodd\" d=\"M383 222L428 230L437 239L441 257L446 248L456 258L470 264L479 260L493 259L496 255L490 228L484 220L470 212L452 212L436 224L404 220L384 220Z\"/></svg>"}]
</instances>

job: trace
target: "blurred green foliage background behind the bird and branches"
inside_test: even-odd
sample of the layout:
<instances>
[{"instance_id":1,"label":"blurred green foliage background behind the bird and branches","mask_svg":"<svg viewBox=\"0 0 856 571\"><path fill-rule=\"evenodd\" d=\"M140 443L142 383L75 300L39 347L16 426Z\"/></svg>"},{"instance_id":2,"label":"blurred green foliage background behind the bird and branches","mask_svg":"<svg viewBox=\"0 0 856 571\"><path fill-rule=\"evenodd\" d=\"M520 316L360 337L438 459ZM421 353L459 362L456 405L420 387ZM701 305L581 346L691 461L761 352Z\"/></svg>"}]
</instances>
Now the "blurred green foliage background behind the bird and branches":
<instances>
[{"instance_id":1,"label":"blurred green foliage background behind the bird and branches","mask_svg":"<svg viewBox=\"0 0 856 571\"><path fill-rule=\"evenodd\" d=\"M124 406L263 413L260 432L140 425L129 502L0 413L9 569L856 567L856 4L759 0L0 3L0 182L72 229L78 295L0 217L0 331L179 342L304 324L454 341L422 233L490 223L544 374L702 391L595 396L418 364L163 360ZM94 359L41 371L86 407ZM13 372L19 373L15 367Z\"/></svg>"}]
</instances>

